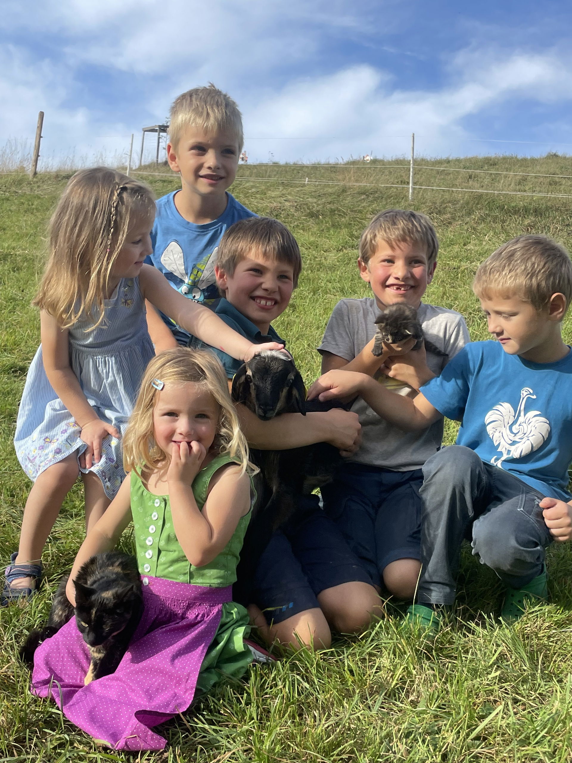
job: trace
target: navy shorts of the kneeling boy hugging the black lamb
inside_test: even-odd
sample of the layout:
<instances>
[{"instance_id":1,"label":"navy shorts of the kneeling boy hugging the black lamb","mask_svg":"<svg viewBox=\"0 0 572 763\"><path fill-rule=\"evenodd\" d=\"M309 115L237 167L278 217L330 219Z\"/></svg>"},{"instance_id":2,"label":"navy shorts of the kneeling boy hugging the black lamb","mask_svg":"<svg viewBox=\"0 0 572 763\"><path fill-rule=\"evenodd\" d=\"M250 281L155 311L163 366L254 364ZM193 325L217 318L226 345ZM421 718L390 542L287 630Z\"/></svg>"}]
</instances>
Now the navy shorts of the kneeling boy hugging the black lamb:
<instances>
[{"instance_id":1,"label":"navy shorts of the kneeling boy hugging the black lamb","mask_svg":"<svg viewBox=\"0 0 572 763\"><path fill-rule=\"evenodd\" d=\"M303 515L272 536L256 568L251 603L269 625L320 607L317 595L326 588L355 581L371 585L317 495L300 496L299 507Z\"/></svg>"}]
</instances>

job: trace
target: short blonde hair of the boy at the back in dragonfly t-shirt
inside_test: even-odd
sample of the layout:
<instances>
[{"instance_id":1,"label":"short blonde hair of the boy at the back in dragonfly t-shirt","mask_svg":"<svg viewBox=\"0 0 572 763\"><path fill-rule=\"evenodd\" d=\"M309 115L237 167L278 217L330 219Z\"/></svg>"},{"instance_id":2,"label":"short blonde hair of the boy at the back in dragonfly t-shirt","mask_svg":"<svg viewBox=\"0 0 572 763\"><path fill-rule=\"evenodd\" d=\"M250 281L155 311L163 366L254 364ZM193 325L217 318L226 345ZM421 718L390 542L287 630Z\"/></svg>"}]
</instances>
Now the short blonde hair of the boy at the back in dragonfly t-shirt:
<instances>
[{"instance_id":1,"label":"short blonde hair of the boy at the back in dragonfly t-shirt","mask_svg":"<svg viewBox=\"0 0 572 763\"><path fill-rule=\"evenodd\" d=\"M216 88L212 82L206 87L193 88L175 98L171 106L169 143L178 146L185 130L199 127L205 132L233 133L239 153L243 149L243 115L230 95Z\"/></svg>"}]
</instances>

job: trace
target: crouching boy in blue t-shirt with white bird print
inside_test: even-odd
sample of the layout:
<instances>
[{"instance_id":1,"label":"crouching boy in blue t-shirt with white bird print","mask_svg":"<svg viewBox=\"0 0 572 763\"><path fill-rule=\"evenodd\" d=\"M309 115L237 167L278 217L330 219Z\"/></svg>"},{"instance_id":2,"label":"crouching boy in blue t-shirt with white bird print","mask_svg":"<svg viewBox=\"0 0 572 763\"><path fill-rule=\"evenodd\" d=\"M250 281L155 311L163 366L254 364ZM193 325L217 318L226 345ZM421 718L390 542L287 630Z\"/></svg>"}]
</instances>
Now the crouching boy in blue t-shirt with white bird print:
<instances>
[{"instance_id":1,"label":"crouching boy in blue t-shirt with white bird print","mask_svg":"<svg viewBox=\"0 0 572 763\"><path fill-rule=\"evenodd\" d=\"M527 601L548 599L545 549L572 534L572 353L561 337L570 256L545 237L521 236L479 267L473 288L496 341L465 346L414 400L362 374L320 378L321 399L362 394L403 429L424 429L440 416L461 421L457 444L423 466L422 572L407 617L431 629L455 601L468 530L474 555L506 585L508 622L522 617Z\"/></svg>"}]
</instances>

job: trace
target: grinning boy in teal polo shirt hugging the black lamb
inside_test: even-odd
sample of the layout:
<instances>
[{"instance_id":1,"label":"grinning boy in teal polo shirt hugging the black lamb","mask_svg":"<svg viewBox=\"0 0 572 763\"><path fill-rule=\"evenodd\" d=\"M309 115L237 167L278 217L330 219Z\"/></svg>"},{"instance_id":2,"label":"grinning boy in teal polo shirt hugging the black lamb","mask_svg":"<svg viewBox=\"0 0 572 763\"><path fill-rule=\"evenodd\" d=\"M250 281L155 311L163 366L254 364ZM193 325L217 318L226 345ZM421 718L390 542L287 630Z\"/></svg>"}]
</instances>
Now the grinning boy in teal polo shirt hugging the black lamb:
<instances>
[{"instance_id":1,"label":"grinning boy in teal polo shirt hugging the black lamb","mask_svg":"<svg viewBox=\"0 0 572 763\"><path fill-rule=\"evenodd\" d=\"M283 342L271 321L281 315L297 285L302 262L296 240L281 223L250 217L223 235L215 275L223 298L216 312L234 330L253 342L266 337ZM204 345L191 340L191 346ZM230 356L211 348L227 371L229 384L239 368ZM249 444L258 449L288 449L329 442L351 452L358 440L356 414L283 414L259 420L237 405ZM323 513L315 495L300 495L304 519L275 533L262 552L248 605L252 623L268 643L294 648L327 648L331 630L355 633L368 626L368 613L379 613L380 600L359 559L342 533Z\"/></svg>"}]
</instances>

